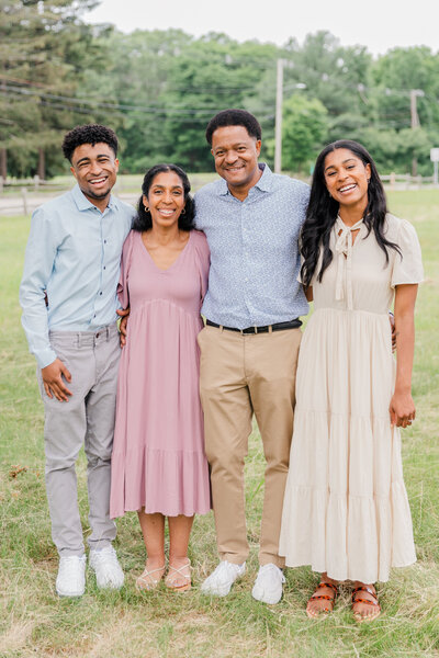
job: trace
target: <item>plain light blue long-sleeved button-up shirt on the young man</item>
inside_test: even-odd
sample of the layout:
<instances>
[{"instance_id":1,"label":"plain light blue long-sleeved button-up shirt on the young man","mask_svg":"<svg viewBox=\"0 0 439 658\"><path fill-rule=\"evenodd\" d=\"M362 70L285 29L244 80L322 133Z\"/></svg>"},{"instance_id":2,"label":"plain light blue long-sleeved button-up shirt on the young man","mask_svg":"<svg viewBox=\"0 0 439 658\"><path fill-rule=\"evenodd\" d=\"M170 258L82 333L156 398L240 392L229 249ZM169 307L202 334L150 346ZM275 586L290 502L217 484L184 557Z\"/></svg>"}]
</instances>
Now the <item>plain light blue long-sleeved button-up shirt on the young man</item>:
<instances>
[{"instance_id":1,"label":"plain light blue long-sleeved button-up shirt on the young man","mask_svg":"<svg viewBox=\"0 0 439 658\"><path fill-rule=\"evenodd\" d=\"M116 320L121 252L134 214L114 196L101 213L78 185L33 213L20 304L40 367L56 359L49 330L98 331Z\"/></svg>"}]
</instances>

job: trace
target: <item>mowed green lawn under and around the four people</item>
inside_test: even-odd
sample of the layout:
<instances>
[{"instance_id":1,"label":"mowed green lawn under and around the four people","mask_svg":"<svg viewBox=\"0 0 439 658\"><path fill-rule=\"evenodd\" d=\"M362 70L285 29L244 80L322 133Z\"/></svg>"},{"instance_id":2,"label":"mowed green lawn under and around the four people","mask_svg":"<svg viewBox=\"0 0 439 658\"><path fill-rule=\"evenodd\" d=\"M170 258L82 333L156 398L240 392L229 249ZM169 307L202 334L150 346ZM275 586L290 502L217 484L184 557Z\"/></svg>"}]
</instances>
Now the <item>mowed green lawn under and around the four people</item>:
<instances>
[{"instance_id":1,"label":"mowed green lawn under and around the four people","mask_svg":"<svg viewBox=\"0 0 439 658\"><path fill-rule=\"evenodd\" d=\"M136 515L127 514L119 521L116 540L126 574L124 588L120 592L99 591L89 574L81 599L56 597L58 560L45 498L43 408L18 304L30 219L0 218L1 657L439 656L439 191L394 192L390 207L415 224L426 269L416 314L417 420L403 436L418 561L408 569L395 569L392 579L379 586L383 614L372 625L362 626L351 617L348 588L341 590L336 611L328 619L306 619L304 608L316 582L316 575L307 568L286 571L280 604L267 606L252 600L263 474L257 430L246 465L251 556L245 578L229 597L211 600L199 589L217 560L212 514L195 520L190 548L194 567L191 592L135 590L145 554ZM87 534L83 455L78 480Z\"/></svg>"}]
</instances>

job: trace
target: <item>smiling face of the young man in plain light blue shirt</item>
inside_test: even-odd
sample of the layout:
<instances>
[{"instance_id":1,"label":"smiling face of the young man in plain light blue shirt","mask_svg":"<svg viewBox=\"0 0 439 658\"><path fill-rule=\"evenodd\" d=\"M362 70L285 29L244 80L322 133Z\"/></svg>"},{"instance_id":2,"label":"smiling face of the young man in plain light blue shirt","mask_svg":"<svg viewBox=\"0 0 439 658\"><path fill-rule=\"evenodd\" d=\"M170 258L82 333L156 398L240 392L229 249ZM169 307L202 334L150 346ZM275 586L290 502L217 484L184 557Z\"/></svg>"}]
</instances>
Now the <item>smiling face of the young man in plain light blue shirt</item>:
<instances>
[{"instance_id":1,"label":"smiling face of the young man in plain light blue shirt","mask_svg":"<svg viewBox=\"0 0 439 658\"><path fill-rule=\"evenodd\" d=\"M70 171L81 192L98 208L106 207L111 189L116 182L119 160L104 143L81 144L71 156Z\"/></svg>"}]
</instances>

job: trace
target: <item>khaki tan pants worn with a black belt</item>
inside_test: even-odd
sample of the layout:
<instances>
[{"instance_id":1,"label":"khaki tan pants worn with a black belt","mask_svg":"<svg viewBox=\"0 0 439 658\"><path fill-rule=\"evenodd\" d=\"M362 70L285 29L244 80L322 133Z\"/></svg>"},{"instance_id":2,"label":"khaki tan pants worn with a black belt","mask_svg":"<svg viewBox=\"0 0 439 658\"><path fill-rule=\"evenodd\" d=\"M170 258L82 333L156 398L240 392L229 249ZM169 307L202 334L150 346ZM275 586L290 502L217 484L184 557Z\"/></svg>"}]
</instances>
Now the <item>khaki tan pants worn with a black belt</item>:
<instances>
[{"instance_id":1,"label":"khaki tan pants worn with a black belt","mask_svg":"<svg viewBox=\"0 0 439 658\"><path fill-rule=\"evenodd\" d=\"M300 329L241 334L206 326L199 334L205 450L221 559L248 557L244 458L255 413L267 461L259 563L278 555L293 433Z\"/></svg>"}]
</instances>

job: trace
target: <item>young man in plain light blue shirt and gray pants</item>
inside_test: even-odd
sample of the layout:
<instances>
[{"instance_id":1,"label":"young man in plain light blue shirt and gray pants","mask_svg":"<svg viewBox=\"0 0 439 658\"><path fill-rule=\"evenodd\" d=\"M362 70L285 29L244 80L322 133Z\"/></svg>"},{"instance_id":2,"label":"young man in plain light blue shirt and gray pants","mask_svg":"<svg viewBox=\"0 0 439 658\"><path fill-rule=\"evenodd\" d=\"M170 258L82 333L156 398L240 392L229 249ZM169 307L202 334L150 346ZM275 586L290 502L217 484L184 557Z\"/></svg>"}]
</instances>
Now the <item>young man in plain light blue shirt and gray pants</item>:
<instances>
[{"instance_id":1,"label":"young man in plain light blue shirt and gray pants","mask_svg":"<svg viewBox=\"0 0 439 658\"><path fill-rule=\"evenodd\" d=\"M77 184L32 216L20 303L45 408L47 499L60 558L56 590L79 597L86 555L75 463L82 444L90 566L98 587L124 581L112 547L110 460L120 356L116 287L134 209L111 195L119 169L113 131L78 126L65 136L63 150Z\"/></svg>"}]
</instances>

